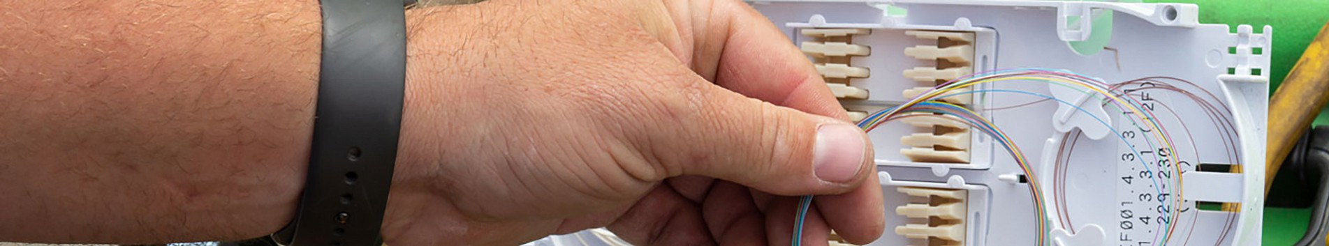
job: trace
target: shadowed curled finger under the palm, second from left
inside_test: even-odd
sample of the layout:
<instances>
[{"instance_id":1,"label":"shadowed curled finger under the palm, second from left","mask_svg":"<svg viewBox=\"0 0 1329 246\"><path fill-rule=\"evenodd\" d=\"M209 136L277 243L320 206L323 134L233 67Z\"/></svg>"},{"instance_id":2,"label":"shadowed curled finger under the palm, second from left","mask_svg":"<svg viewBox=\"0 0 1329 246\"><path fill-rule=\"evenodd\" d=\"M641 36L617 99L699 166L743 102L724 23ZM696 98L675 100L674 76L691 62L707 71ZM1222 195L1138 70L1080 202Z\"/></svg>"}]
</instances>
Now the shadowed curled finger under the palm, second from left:
<instances>
[{"instance_id":1,"label":"shadowed curled finger under the palm, second from left","mask_svg":"<svg viewBox=\"0 0 1329 246\"><path fill-rule=\"evenodd\" d=\"M747 187L716 181L702 203L702 217L720 245L767 245L766 217Z\"/></svg>"}]
</instances>

